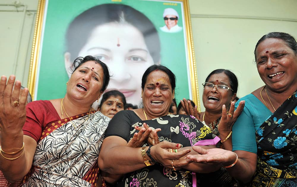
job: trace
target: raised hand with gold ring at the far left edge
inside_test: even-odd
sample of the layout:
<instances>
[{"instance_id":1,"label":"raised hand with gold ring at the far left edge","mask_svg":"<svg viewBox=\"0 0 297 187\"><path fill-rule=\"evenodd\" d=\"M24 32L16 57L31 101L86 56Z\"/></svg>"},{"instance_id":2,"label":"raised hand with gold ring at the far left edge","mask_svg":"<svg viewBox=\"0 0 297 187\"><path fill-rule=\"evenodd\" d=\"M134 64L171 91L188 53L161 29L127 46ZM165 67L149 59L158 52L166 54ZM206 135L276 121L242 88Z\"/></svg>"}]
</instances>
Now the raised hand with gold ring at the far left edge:
<instances>
[{"instance_id":1,"label":"raised hand with gold ring at the far left edge","mask_svg":"<svg viewBox=\"0 0 297 187\"><path fill-rule=\"evenodd\" d=\"M0 126L2 133L18 133L26 121L26 101L28 88L21 94L21 83L15 76L2 76L0 80Z\"/></svg>"}]
</instances>

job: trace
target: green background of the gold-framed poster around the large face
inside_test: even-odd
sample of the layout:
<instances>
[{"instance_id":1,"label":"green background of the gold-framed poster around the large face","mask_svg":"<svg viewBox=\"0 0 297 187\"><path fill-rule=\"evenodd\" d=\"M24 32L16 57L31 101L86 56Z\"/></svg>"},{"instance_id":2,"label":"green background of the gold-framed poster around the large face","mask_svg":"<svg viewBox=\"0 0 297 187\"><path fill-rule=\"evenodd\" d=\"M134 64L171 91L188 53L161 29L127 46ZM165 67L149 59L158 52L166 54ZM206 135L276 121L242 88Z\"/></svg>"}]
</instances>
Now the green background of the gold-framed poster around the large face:
<instances>
[{"instance_id":1,"label":"green background of the gold-framed poster around the large face","mask_svg":"<svg viewBox=\"0 0 297 187\"><path fill-rule=\"evenodd\" d=\"M121 1L121 2L114 2ZM169 2L169 3L168 3ZM171 3L170 3L171 2ZM162 18L165 8L174 8L180 18L178 25L185 28L182 2L149 0L48 0L41 48L36 100L64 97L68 76L64 67L65 33L69 23L80 13L98 4L119 3L129 5L146 15L157 28L161 42L161 64L176 75L176 100L189 98L187 49L185 33L165 33ZM140 86L140 85L139 85Z\"/></svg>"}]
</instances>

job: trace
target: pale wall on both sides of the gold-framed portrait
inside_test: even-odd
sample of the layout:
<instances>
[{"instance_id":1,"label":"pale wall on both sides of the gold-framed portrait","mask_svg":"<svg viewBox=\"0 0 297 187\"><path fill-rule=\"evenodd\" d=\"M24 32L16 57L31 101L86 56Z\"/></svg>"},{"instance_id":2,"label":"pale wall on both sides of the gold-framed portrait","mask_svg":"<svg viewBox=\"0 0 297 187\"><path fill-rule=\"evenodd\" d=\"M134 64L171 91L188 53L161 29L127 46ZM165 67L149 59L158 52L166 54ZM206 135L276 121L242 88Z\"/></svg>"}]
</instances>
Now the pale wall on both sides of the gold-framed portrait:
<instances>
[{"instance_id":1,"label":"pale wall on both sides of the gold-framed portrait","mask_svg":"<svg viewBox=\"0 0 297 187\"><path fill-rule=\"evenodd\" d=\"M0 2L0 74L15 74L25 86L37 4L37 0ZM189 5L202 111L201 84L212 70L233 71L242 97L263 85L253 55L258 39L271 31L297 37L295 0L189 0Z\"/></svg>"}]
</instances>

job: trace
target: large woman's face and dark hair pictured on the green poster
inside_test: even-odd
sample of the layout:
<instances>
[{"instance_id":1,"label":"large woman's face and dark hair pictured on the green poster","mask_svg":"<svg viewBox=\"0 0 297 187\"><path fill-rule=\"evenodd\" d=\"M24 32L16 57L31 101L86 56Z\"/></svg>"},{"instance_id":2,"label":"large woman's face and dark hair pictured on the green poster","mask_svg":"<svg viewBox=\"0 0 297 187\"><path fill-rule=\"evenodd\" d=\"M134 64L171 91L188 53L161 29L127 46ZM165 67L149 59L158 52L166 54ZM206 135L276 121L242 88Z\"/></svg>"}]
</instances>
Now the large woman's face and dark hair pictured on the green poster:
<instances>
[{"instance_id":1,"label":"large woman's face and dark hair pictured on the green poster","mask_svg":"<svg viewBox=\"0 0 297 187\"><path fill-rule=\"evenodd\" d=\"M69 24L66 45L68 74L73 59L95 56L110 69L106 91L119 90L128 103L137 105L141 102L141 76L160 61L160 40L154 24L124 4L101 4L82 12Z\"/></svg>"}]
</instances>

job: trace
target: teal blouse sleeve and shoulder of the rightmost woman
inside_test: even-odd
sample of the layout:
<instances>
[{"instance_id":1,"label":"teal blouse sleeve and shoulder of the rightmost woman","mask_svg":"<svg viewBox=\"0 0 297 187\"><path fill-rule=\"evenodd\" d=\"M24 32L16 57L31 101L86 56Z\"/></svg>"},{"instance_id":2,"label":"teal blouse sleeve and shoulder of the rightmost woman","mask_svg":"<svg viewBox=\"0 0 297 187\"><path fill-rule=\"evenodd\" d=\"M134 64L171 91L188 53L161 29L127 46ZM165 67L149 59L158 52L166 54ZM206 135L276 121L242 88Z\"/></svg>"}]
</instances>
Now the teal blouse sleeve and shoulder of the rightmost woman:
<instances>
[{"instance_id":1,"label":"teal blouse sleeve and shoulder of the rightmost woman","mask_svg":"<svg viewBox=\"0 0 297 187\"><path fill-rule=\"evenodd\" d=\"M253 94L248 94L235 103L238 107L244 100L244 110L232 128L233 151L244 150L257 154L256 130L271 115L271 111Z\"/></svg>"}]
</instances>

